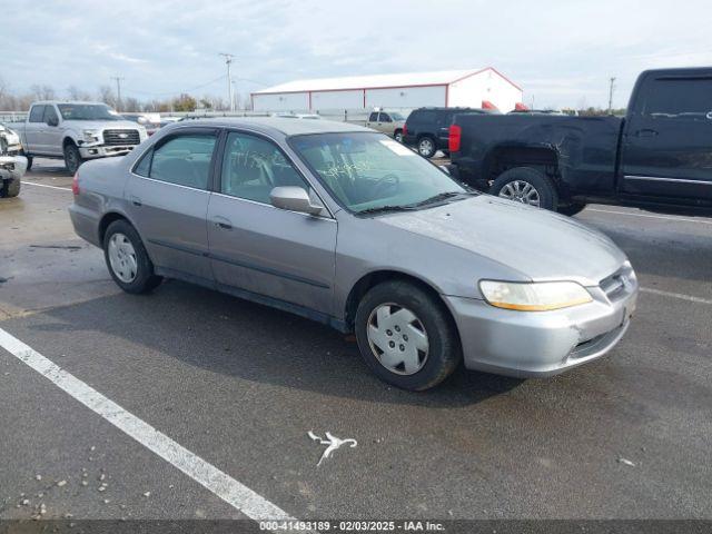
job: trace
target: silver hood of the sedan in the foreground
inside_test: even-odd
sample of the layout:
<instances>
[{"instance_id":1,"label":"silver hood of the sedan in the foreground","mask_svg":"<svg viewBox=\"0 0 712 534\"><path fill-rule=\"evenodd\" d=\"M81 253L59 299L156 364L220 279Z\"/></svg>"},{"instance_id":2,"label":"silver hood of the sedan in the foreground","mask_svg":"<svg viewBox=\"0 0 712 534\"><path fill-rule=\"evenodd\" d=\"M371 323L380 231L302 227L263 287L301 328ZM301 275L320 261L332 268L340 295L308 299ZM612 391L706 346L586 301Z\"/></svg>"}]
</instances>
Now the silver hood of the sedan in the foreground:
<instances>
[{"instance_id":1,"label":"silver hood of the sedan in the foreground","mask_svg":"<svg viewBox=\"0 0 712 534\"><path fill-rule=\"evenodd\" d=\"M379 221L472 251L537 281L596 286L626 260L611 239L570 217L490 195L396 212Z\"/></svg>"}]
</instances>

